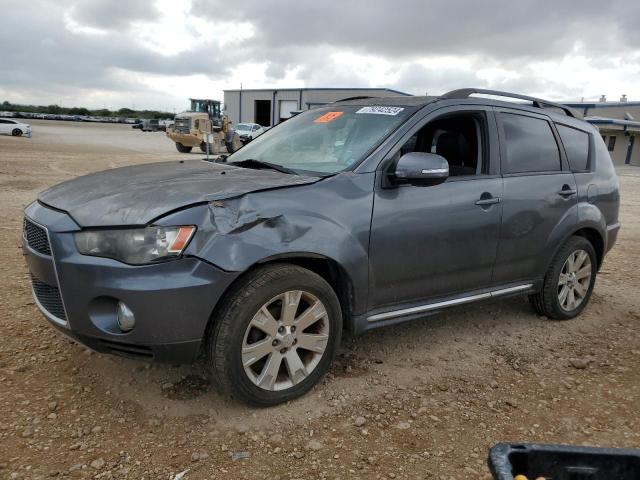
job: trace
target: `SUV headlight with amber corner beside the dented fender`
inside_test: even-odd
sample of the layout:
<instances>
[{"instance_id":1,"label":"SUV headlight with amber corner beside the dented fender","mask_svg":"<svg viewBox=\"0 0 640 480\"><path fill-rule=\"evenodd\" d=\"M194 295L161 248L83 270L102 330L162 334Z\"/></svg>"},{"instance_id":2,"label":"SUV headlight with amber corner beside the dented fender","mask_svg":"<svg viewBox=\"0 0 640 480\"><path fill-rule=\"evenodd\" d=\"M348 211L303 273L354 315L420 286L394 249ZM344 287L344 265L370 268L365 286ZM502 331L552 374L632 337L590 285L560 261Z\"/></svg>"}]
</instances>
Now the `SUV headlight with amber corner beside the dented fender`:
<instances>
[{"instance_id":1,"label":"SUV headlight with amber corner beside the dented fender","mask_svg":"<svg viewBox=\"0 0 640 480\"><path fill-rule=\"evenodd\" d=\"M83 255L142 265L179 256L195 231L193 226L85 230L74 239Z\"/></svg>"}]
</instances>

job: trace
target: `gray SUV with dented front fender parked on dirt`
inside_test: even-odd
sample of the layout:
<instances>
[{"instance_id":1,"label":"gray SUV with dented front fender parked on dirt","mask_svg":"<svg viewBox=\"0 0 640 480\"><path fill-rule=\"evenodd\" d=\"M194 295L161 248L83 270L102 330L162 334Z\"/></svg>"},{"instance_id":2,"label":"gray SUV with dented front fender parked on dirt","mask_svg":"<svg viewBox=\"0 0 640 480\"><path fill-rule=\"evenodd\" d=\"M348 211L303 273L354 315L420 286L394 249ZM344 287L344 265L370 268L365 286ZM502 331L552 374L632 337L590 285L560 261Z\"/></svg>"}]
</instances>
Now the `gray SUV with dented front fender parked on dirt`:
<instances>
[{"instance_id":1,"label":"gray SUV with dented front fender parked on dirt","mask_svg":"<svg viewBox=\"0 0 640 480\"><path fill-rule=\"evenodd\" d=\"M272 405L320 380L343 328L509 295L575 317L618 203L594 127L562 105L464 89L345 100L216 162L70 180L26 208L24 252L65 335L204 358L221 388Z\"/></svg>"}]
</instances>

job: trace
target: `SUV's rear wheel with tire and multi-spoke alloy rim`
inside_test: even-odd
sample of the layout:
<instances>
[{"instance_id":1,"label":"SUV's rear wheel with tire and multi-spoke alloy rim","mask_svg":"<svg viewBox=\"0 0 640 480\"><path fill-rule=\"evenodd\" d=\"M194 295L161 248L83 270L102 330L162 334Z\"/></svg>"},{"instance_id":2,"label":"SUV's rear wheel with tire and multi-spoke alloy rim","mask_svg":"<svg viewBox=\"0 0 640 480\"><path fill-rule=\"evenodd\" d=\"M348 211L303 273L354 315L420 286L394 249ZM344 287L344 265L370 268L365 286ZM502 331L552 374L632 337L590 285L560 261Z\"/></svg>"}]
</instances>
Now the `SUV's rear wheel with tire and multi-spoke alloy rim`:
<instances>
[{"instance_id":1,"label":"SUV's rear wheel with tire and multi-spoke alloy rim","mask_svg":"<svg viewBox=\"0 0 640 480\"><path fill-rule=\"evenodd\" d=\"M574 318L587 306L596 281L598 259L591 242L571 237L553 258L542 289L529 296L538 315L554 320Z\"/></svg>"}]
</instances>

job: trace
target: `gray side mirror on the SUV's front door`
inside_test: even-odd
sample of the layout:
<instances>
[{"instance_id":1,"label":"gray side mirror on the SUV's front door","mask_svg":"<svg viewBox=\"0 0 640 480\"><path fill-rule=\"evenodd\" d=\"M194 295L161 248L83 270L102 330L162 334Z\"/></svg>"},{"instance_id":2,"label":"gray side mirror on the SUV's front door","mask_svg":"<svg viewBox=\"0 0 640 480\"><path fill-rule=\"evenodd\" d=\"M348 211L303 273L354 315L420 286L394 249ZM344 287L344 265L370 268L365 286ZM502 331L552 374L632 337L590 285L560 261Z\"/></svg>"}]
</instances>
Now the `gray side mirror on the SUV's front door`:
<instances>
[{"instance_id":1,"label":"gray side mirror on the SUV's front door","mask_svg":"<svg viewBox=\"0 0 640 480\"><path fill-rule=\"evenodd\" d=\"M393 172L396 183L438 185L449 177L449 162L435 153L409 152L400 157Z\"/></svg>"}]
</instances>

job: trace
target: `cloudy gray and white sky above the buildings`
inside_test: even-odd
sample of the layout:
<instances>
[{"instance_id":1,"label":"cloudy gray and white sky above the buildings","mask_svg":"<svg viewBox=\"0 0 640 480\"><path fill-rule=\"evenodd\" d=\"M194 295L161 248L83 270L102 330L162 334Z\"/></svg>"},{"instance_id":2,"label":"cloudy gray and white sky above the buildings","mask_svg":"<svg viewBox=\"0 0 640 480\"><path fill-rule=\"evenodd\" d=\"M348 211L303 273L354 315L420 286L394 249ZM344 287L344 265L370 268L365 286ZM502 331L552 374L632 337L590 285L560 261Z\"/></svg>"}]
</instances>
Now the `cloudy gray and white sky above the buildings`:
<instances>
[{"instance_id":1,"label":"cloudy gray and white sky above the buildings","mask_svg":"<svg viewBox=\"0 0 640 480\"><path fill-rule=\"evenodd\" d=\"M628 0L0 0L0 102L184 110L226 88L640 100Z\"/></svg>"}]
</instances>

